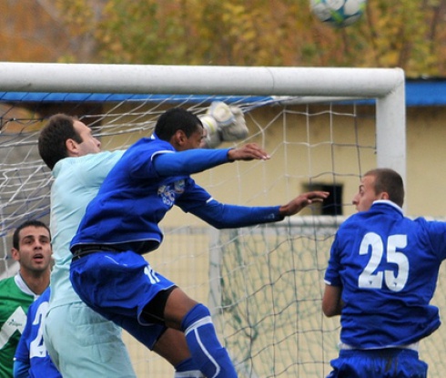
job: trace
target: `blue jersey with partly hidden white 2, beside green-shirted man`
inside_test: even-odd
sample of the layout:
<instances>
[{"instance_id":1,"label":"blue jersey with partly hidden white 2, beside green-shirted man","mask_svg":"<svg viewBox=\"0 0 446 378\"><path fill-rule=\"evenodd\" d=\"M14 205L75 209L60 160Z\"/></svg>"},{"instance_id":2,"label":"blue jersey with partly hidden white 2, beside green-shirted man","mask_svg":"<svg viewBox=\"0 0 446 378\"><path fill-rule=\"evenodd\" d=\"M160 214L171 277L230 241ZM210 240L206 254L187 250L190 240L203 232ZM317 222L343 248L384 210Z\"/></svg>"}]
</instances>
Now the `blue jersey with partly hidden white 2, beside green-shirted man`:
<instances>
[{"instance_id":1,"label":"blue jersey with partly hidden white 2, beside green-shirted man","mask_svg":"<svg viewBox=\"0 0 446 378\"><path fill-rule=\"evenodd\" d=\"M29 307L25 330L15 350L15 364L18 363L15 365L15 376L17 377L62 377L46 352L43 339L43 321L48 311L49 296L48 288ZM17 373L20 370L22 373Z\"/></svg>"}]
</instances>

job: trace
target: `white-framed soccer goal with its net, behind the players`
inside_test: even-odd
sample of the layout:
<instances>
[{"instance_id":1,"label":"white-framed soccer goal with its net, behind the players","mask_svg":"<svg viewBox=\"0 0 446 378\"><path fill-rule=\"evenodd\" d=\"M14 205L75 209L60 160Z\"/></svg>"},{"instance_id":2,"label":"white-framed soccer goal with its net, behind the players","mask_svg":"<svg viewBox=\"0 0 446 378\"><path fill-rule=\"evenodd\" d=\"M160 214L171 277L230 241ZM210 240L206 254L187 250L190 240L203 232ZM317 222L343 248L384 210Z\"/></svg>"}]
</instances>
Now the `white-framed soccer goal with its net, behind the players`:
<instances>
[{"instance_id":1,"label":"white-framed soccer goal with its net, behind the players","mask_svg":"<svg viewBox=\"0 0 446 378\"><path fill-rule=\"evenodd\" d=\"M324 376L340 331L339 319L320 310L333 235L354 212L350 200L362 173L385 166L405 177L399 69L0 63L0 274L17 269L9 253L15 227L48 220L52 178L36 148L47 117L76 115L112 150L150 135L168 107L203 114L215 100L240 107L249 129L246 139L222 147L256 142L271 159L194 176L214 198L274 205L324 189L329 200L238 230L214 230L173 209L163 220L165 241L147 260L208 304L240 377ZM125 338L138 376L172 375L167 363ZM428 362L437 354L422 353ZM440 362L431 364L431 376Z\"/></svg>"}]
</instances>

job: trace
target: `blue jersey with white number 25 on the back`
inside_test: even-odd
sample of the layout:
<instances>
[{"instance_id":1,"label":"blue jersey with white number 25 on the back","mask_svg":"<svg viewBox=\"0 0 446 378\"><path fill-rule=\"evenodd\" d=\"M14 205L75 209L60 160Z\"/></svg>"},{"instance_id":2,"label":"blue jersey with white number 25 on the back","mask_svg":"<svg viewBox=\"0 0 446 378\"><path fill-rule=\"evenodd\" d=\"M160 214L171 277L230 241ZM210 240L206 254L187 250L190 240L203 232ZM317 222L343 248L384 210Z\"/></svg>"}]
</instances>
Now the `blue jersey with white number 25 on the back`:
<instances>
[{"instance_id":1,"label":"blue jersey with white number 25 on the back","mask_svg":"<svg viewBox=\"0 0 446 378\"><path fill-rule=\"evenodd\" d=\"M325 281L342 287L340 341L354 348L418 342L440 326L430 304L446 223L405 218L390 201L352 215L337 232Z\"/></svg>"}]
</instances>

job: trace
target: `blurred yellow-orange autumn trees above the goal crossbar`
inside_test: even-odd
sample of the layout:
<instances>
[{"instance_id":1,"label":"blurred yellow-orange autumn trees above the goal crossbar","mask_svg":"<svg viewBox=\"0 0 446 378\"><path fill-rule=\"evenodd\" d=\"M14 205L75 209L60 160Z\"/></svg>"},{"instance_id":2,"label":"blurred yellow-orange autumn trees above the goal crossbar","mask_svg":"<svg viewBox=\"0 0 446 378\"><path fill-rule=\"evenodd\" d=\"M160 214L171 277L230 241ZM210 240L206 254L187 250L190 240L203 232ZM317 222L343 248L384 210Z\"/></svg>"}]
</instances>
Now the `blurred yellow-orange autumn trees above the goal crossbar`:
<instances>
[{"instance_id":1,"label":"blurred yellow-orange autumn trees above the goal crossbar","mask_svg":"<svg viewBox=\"0 0 446 378\"><path fill-rule=\"evenodd\" d=\"M27 1L16 3L25 9ZM40 61L399 66L408 77L446 77L446 0L368 0L360 22L341 29L311 15L309 0L38 3L51 13L50 21L41 27L60 28L60 44L65 46L63 51L47 55L48 60L43 54ZM19 13L17 10L17 17ZM25 51L21 53L24 56ZM2 60L25 59L4 56Z\"/></svg>"}]
</instances>

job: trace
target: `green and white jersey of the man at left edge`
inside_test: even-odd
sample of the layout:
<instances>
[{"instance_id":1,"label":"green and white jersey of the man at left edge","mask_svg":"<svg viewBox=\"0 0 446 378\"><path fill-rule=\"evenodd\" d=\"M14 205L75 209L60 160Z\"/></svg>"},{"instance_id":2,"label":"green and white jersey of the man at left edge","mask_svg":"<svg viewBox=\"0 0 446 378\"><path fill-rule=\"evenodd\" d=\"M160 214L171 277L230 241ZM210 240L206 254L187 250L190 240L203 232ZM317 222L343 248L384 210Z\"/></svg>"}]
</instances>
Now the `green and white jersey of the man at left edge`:
<instances>
[{"instance_id":1,"label":"green and white jersey of the man at left edge","mask_svg":"<svg viewBox=\"0 0 446 378\"><path fill-rule=\"evenodd\" d=\"M19 274L0 281L0 378L13 377L15 348L37 297Z\"/></svg>"}]
</instances>

